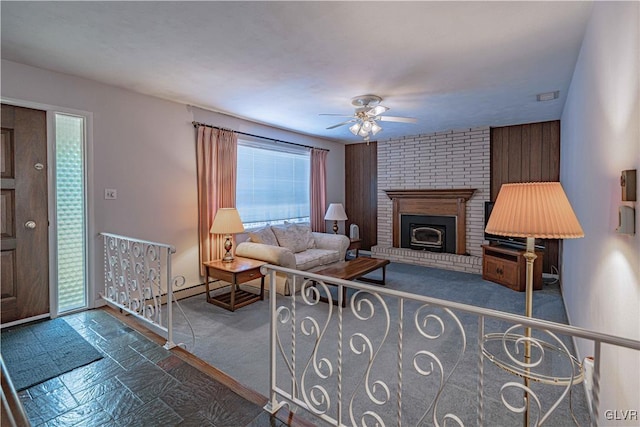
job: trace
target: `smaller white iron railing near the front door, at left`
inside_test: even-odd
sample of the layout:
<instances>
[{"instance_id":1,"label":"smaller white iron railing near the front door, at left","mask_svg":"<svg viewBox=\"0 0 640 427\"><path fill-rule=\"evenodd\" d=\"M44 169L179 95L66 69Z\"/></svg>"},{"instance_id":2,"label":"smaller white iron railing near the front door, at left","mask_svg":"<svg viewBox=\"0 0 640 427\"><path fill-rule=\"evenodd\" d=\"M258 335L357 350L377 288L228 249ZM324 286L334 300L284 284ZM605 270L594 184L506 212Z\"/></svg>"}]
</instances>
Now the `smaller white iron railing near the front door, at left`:
<instances>
[{"instance_id":1,"label":"smaller white iron railing near the front door, at left","mask_svg":"<svg viewBox=\"0 0 640 427\"><path fill-rule=\"evenodd\" d=\"M165 337L166 349L175 347L173 289L184 280L171 276L171 255L175 248L118 234L100 235L104 239L105 280L100 296L110 306L135 316ZM162 314L163 295L166 295L166 317Z\"/></svg>"}]
</instances>

